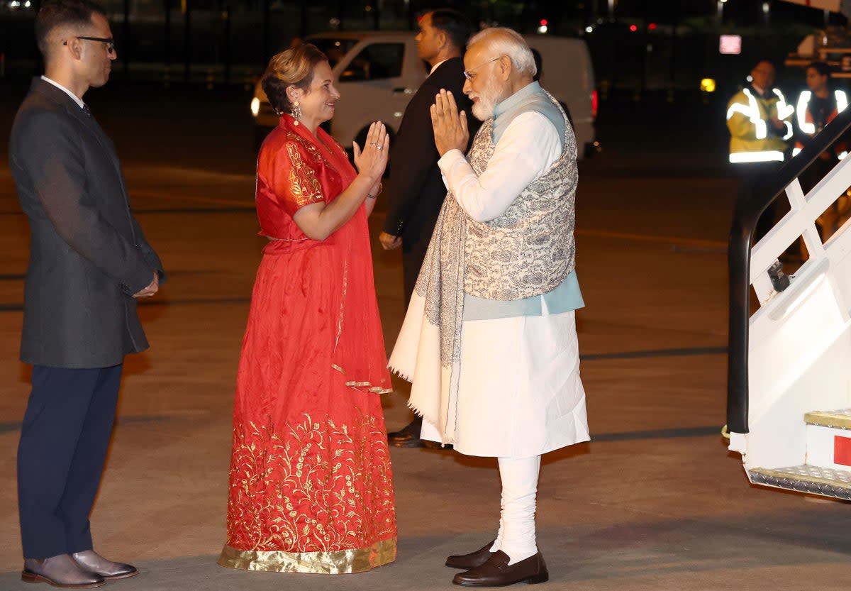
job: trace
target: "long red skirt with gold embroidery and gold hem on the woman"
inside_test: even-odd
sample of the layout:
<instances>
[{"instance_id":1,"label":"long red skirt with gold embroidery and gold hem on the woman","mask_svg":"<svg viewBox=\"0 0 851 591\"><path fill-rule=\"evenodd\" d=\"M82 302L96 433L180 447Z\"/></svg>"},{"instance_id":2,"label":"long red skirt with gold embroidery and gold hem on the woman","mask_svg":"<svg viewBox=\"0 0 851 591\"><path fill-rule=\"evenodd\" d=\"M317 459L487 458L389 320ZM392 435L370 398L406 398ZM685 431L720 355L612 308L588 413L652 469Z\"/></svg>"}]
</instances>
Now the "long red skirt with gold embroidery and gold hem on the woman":
<instances>
[{"instance_id":1,"label":"long red skirt with gold embroidery and gold hem on the woman","mask_svg":"<svg viewBox=\"0 0 851 591\"><path fill-rule=\"evenodd\" d=\"M349 291L360 289L364 273L353 276L349 263L336 269L334 237L326 242L302 250L270 243L260 263L237 376L220 565L343 573L396 557L380 403L389 375L371 383L346 367L371 347L378 374L386 373L384 343L380 325L358 328L363 309L347 307L358 301ZM368 267L375 307L368 317L377 324Z\"/></svg>"}]
</instances>

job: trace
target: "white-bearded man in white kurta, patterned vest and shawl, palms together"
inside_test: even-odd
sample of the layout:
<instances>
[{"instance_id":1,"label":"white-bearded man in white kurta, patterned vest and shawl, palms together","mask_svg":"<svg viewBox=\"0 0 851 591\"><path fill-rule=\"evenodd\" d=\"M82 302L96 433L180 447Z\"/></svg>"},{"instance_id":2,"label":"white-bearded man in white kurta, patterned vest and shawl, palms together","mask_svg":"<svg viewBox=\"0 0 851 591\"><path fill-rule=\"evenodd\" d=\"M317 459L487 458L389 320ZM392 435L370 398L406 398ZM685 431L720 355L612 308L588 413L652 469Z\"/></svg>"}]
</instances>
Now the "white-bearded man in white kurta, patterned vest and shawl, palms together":
<instances>
[{"instance_id":1,"label":"white-bearded man in white kurta, patterned vest and shawl, palms together","mask_svg":"<svg viewBox=\"0 0 851 591\"><path fill-rule=\"evenodd\" d=\"M540 456L587 441L574 311L576 141L563 109L533 81L523 37L472 37L464 93L484 121L470 152L451 93L431 107L448 188L390 365L412 382L421 437L497 457L496 537L449 556L453 582L544 582L535 538ZM495 503L494 503L495 504Z\"/></svg>"}]
</instances>

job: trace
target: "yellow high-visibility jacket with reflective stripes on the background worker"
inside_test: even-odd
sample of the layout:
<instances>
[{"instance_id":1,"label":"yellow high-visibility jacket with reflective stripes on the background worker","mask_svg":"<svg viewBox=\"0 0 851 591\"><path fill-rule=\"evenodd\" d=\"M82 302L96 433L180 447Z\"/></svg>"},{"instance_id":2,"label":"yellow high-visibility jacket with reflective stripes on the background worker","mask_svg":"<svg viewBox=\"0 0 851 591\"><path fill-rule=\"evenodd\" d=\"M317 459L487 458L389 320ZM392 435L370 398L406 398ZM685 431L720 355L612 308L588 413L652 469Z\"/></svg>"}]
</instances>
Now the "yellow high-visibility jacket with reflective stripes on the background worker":
<instances>
[{"instance_id":1,"label":"yellow high-visibility jacket with reflective stripes on the background worker","mask_svg":"<svg viewBox=\"0 0 851 591\"><path fill-rule=\"evenodd\" d=\"M792 136L792 114L795 107L786 103L778 89L762 98L751 88L734 95L727 106L727 128L730 130L730 162L783 162L786 141ZM776 115L785 129L778 132L771 124Z\"/></svg>"}]
</instances>

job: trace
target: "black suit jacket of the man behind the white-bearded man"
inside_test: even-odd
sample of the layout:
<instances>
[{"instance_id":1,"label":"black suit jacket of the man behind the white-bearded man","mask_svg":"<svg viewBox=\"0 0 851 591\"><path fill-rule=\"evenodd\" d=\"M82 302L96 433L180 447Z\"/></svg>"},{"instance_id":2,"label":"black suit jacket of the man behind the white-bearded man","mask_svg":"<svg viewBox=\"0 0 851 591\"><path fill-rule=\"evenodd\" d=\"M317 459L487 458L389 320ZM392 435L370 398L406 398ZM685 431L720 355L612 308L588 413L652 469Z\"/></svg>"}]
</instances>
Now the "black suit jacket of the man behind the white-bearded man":
<instances>
[{"instance_id":1,"label":"black suit jacket of the man behind the white-bearded man","mask_svg":"<svg viewBox=\"0 0 851 591\"><path fill-rule=\"evenodd\" d=\"M406 300L420 273L431 232L437 222L446 186L437 168L440 155L431 129L431 105L440 89L452 92L458 108L467 115L470 137L482 124L472 116L471 102L462 92L464 61L446 60L417 90L405 109L398 134L390 148L391 174L387 185L384 231L402 237ZM412 280L413 278L413 280Z\"/></svg>"}]
</instances>

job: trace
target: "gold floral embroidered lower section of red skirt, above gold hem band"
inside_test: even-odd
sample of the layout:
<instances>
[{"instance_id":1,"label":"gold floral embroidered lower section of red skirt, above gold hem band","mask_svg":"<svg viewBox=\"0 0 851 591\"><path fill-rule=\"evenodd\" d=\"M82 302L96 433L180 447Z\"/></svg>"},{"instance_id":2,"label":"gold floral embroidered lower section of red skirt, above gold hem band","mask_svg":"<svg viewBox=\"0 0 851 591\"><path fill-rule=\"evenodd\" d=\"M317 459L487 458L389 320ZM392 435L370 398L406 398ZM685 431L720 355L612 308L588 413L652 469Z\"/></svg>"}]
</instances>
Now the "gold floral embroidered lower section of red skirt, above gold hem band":
<instances>
[{"instance_id":1,"label":"gold floral embroidered lower section of red skirt, above gold hem band","mask_svg":"<svg viewBox=\"0 0 851 591\"><path fill-rule=\"evenodd\" d=\"M390 454L375 417L234 426L228 542L290 553L368 548L396 536Z\"/></svg>"}]
</instances>

